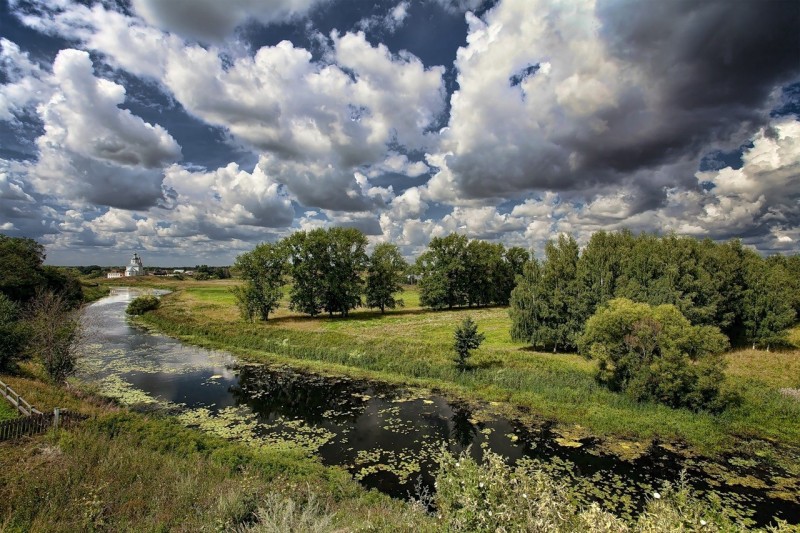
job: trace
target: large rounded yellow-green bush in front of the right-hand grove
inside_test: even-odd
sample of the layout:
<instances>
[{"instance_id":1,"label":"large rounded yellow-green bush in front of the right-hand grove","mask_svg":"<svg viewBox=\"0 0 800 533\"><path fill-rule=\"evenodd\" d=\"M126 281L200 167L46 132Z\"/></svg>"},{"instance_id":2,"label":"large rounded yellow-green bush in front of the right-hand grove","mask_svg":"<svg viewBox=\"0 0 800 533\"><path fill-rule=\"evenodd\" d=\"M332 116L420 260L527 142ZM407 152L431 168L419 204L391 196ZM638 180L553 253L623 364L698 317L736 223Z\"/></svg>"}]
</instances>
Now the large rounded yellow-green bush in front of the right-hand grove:
<instances>
[{"instance_id":1,"label":"large rounded yellow-green bush in front of the right-hand grove","mask_svg":"<svg viewBox=\"0 0 800 533\"><path fill-rule=\"evenodd\" d=\"M713 326L692 326L671 304L609 301L587 322L581 352L598 360L597 379L637 401L719 410L728 347Z\"/></svg>"}]
</instances>

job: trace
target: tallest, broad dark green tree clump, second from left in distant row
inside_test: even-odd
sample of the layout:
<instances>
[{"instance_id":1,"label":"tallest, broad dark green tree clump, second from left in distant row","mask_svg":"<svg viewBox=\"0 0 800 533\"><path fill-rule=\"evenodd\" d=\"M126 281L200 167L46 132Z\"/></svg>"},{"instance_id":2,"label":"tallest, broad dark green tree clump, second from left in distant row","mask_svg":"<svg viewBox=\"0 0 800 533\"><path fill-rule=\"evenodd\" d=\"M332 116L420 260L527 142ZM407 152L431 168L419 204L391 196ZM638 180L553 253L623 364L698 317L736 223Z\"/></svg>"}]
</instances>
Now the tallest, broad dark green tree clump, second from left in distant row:
<instances>
[{"instance_id":1,"label":"tallest, broad dark green tree clump, second from left in distant row","mask_svg":"<svg viewBox=\"0 0 800 533\"><path fill-rule=\"evenodd\" d=\"M289 307L316 316L347 316L361 305L367 237L355 228L298 231L282 241L291 264Z\"/></svg>"}]
</instances>

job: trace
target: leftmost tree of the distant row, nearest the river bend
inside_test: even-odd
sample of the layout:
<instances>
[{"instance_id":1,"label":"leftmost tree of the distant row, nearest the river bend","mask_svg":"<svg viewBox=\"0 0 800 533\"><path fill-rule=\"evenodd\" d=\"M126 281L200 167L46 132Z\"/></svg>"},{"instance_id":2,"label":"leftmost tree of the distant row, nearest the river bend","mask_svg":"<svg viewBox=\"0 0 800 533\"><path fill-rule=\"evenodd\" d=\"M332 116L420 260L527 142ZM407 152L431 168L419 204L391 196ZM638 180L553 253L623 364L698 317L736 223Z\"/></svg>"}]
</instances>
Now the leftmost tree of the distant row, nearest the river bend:
<instances>
[{"instance_id":1,"label":"leftmost tree of the distant row, nearest the river bend","mask_svg":"<svg viewBox=\"0 0 800 533\"><path fill-rule=\"evenodd\" d=\"M256 317L268 320L283 295L281 287L288 269L285 248L261 243L239 255L235 268L244 280L244 285L232 290L242 317L249 321Z\"/></svg>"}]
</instances>

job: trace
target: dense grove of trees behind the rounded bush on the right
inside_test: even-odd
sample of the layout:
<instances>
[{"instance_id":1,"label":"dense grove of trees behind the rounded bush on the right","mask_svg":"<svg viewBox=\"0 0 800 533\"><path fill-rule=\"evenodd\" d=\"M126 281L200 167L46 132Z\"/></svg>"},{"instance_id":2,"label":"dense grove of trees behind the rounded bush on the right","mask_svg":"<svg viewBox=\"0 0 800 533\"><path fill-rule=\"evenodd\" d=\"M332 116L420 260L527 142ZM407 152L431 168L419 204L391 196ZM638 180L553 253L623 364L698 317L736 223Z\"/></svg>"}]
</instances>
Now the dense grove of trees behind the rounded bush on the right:
<instances>
[{"instance_id":1,"label":"dense grove of trees behind the rounded bush on the right","mask_svg":"<svg viewBox=\"0 0 800 533\"><path fill-rule=\"evenodd\" d=\"M764 259L738 240L630 231L597 232L581 252L562 235L518 279L511 336L538 348L575 350L585 322L613 298L671 304L735 344L769 348L785 342L800 311L800 256Z\"/></svg>"}]
</instances>

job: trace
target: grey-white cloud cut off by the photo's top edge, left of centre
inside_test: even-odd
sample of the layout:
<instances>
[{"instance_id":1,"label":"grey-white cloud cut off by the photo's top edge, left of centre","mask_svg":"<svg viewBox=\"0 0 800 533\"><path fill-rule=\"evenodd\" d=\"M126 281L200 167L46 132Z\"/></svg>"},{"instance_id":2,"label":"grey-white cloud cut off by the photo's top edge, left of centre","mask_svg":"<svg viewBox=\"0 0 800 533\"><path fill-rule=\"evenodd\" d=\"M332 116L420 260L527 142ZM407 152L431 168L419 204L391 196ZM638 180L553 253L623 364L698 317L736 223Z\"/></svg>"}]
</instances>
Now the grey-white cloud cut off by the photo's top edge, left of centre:
<instances>
[{"instance_id":1,"label":"grey-white cloud cut off by the photo's top edge, left of centre","mask_svg":"<svg viewBox=\"0 0 800 533\"><path fill-rule=\"evenodd\" d=\"M193 39L217 41L248 20L263 24L303 16L327 0L132 0L148 23Z\"/></svg>"}]
</instances>

